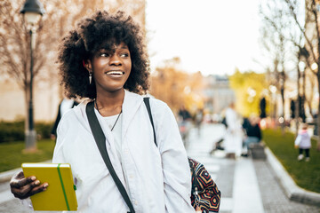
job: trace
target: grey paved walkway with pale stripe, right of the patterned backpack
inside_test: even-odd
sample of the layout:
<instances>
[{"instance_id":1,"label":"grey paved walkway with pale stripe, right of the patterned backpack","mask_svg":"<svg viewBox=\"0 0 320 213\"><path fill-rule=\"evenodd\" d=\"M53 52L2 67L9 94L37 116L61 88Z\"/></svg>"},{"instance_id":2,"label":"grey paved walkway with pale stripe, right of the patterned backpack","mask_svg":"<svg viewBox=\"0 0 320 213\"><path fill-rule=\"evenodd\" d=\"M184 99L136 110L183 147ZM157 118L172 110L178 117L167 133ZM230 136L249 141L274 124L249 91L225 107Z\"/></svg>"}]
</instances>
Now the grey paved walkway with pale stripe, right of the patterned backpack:
<instances>
[{"instance_id":1,"label":"grey paved walkway with pale stripe, right of the patterned backpack","mask_svg":"<svg viewBox=\"0 0 320 213\"><path fill-rule=\"evenodd\" d=\"M320 207L290 201L276 181L267 161L225 158L223 151L210 154L213 143L224 135L220 124L206 124L198 136L190 132L188 155L202 162L222 196L220 213L319 213Z\"/></svg>"}]
</instances>

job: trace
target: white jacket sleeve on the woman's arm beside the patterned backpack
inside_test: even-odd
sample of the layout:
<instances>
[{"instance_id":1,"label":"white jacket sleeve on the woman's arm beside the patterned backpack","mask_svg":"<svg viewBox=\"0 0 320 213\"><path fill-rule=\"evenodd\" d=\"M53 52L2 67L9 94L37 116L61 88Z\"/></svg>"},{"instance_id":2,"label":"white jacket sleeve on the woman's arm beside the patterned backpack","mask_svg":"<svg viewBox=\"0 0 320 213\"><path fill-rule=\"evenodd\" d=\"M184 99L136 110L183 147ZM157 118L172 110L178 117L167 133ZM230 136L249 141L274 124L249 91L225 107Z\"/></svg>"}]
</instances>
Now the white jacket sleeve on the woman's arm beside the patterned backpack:
<instances>
[{"instance_id":1,"label":"white jacket sleeve on the woman's arm beside the patterned backpack","mask_svg":"<svg viewBox=\"0 0 320 213\"><path fill-rule=\"evenodd\" d=\"M171 109L164 104L156 114L156 138L163 162L166 212L195 212L191 206L191 174L188 156Z\"/></svg>"}]
</instances>

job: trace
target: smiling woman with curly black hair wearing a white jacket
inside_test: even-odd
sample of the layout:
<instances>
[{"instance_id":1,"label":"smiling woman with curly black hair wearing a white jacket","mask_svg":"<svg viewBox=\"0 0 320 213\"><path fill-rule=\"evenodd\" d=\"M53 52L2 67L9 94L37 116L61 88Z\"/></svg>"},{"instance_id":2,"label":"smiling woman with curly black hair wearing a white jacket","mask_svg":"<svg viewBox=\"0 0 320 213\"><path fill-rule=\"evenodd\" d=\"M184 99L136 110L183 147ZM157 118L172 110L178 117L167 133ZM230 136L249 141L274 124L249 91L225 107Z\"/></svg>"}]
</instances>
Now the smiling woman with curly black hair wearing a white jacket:
<instances>
[{"instance_id":1,"label":"smiling woman with curly black hair wearing a white jacket","mask_svg":"<svg viewBox=\"0 0 320 213\"><path fill-rule=\"evenodd\" d=\"M136 212L195 212L188 158L177 122L164 102L150 99L157 147L140 94L148 90L148 58L140 28L124 12L96 12L60 46L68 98L89 98L106 136L110 161ZM80 212L127 212L128 207L92 136L84 101L63 116L52 162L71 164ZM12 179L20 199L50 187L35 177ZM21 187L22 186L22 187ZM26 189L27 188L27 189ZM21 191L24 190L22 193ZM22 194L22 195L21 195Z\"/></svg>"}]
</instances>

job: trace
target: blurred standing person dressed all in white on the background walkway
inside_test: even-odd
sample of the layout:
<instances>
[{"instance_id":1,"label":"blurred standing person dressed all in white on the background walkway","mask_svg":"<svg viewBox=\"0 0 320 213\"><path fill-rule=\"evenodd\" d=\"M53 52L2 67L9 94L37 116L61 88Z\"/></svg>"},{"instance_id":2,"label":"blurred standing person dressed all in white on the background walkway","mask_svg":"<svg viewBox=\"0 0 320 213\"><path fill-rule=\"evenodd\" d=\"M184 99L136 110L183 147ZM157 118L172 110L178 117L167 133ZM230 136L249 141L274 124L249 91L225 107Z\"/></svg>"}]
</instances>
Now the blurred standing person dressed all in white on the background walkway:
<instances>
[{"instance_id":1,"label":"blurred standing person dressed all in white on the background walkway","mask_svg":"<svg viewBox=\"0 0 320 213\"><path fill-rule=\"evenodd\" d=\"M231 103L226 110L226 122L228 126L224 140L226 156L237 158L242 153L243 130L241 119L235 110L235 103Z\"/></svg>"}]
</instances>

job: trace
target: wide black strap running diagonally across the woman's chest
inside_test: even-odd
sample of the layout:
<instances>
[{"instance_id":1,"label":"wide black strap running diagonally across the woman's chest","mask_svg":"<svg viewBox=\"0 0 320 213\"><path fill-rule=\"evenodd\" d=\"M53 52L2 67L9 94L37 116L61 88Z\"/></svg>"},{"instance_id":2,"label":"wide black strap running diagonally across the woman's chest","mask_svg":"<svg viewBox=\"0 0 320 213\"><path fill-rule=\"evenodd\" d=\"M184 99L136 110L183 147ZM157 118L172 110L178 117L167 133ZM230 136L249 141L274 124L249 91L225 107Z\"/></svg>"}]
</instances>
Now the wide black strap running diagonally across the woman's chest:
<instances>
[{"instance_id":1,"label":"wide black strap running diagonally across the woman's chest","mask_svg":"<svg viewBox=\"0 0 320 213\"><path fill-rule=\"evenodd\" d=\"M129 213L135 213L132 202L130 201L130 198L128 196L128 193L125 191L124 185L121 183L119 177L116 176L116 171L114 170L110 158L108 156L108 151L106 147L106 136L103 133L103 130L101 129L100 123L98 121L98 118L96 114L94 113L94 105L93 102L90 102L87 104L85 108L85 112L88 117L88 121L90 124L90 128L92 130L93 138L95 139L97 146L99 148L100 154L103 158L103 161L106 163L107 168L111 174L111 177L114 179L116 183L116 187L119 189L121 195L124 198L125 203L128 205L130 212Z\"/></svg>"}]
</instances>

